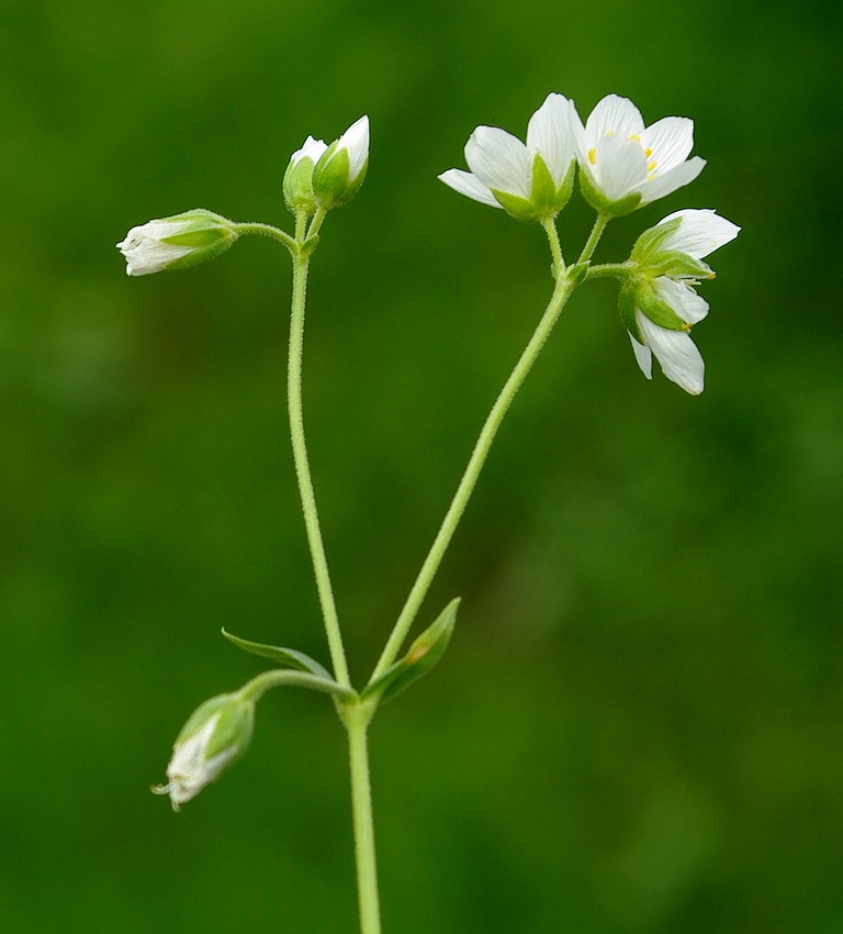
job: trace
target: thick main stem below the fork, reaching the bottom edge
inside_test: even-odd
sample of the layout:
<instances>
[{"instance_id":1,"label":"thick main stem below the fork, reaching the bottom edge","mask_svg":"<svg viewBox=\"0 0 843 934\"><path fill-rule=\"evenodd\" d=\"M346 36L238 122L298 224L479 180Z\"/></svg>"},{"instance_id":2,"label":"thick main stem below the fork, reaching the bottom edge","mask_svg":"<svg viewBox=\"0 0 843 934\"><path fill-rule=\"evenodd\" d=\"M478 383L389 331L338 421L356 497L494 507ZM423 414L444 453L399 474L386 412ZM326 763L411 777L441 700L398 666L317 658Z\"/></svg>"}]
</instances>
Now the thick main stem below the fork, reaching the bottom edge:
<instances>
[{"instance_id":1,"label":"thick main stem below the fork, reaching the bottom edge","mask_svg":"<svg viewBox=\"0 0 843 934\"><path fill-rule=\"evenodd\" d=\"M372 713L372 709L366 704L349 703L342 707L341 714L348 733L351 816L355 830L355 863L361 934L381 934L372 787L369 778L368 731Z\"/></svg>"}]
</instances>

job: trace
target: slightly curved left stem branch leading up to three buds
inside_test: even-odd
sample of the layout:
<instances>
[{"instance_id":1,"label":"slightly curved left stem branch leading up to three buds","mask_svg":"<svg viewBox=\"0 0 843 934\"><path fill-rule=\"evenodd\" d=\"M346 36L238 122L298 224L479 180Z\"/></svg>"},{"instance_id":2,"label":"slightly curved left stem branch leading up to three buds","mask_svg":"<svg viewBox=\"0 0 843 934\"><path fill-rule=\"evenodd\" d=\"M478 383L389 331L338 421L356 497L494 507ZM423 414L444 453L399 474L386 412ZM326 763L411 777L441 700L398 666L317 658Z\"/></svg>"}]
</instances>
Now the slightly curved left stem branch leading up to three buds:
<instances>
[{"instance_id":1,"label":"slightly curved left stem branch leading up to three buds","mask_svg":"<svg viewBox=\"0 0 843 934\"><path fill-rule=\"evenodd\" d=\"M293 251L293 300L290 315L290 346L286 368L286 404L290 416L290 436L293 444L293 460L295 476L299 481L299 493L304 512L304 524L307 531L307 544L311 549L313 570L316 576L316 588L319 594L322 616L325 633L328 637L328 649L334 667L334 677L342 686L350 688L348 663L342 647L342 635L339 630L339 619L334 601L334 591L328 575L328 563L325 557L325 546L322 541L319 518L316 511L316 498L313 491L311 465L307 459L307 447L304 441L304 416L302 411L302 352L304 346L304 308L307 292L307 270L310 256L301 249L304 238L304 218L296 218L296 244L300 248Z\"/></svg>"}]
</instances>

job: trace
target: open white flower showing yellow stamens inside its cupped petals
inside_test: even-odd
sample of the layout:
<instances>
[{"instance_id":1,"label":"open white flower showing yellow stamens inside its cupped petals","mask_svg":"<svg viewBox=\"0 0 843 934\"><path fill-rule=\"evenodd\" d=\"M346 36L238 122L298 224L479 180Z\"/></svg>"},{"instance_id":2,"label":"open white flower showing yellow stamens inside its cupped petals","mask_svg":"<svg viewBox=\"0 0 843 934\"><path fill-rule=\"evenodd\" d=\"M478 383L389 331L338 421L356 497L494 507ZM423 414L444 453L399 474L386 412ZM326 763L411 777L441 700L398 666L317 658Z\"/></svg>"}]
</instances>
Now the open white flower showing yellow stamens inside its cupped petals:
<instances>
[{"instance_id":1,"label":"open white flower showing yellow stamens inside its cupped petals","mask_svg":"<svg viewBox=\"0 0 843 934\"><path fill-rule=\"evenodd\" d=\"M665 116L644 126L638 108L609 94L585 126L576 121L576 147L583 194L593 208L626 214L693 181L706 160L688 159L694 121Z\"/></svg>"}]
</instances>

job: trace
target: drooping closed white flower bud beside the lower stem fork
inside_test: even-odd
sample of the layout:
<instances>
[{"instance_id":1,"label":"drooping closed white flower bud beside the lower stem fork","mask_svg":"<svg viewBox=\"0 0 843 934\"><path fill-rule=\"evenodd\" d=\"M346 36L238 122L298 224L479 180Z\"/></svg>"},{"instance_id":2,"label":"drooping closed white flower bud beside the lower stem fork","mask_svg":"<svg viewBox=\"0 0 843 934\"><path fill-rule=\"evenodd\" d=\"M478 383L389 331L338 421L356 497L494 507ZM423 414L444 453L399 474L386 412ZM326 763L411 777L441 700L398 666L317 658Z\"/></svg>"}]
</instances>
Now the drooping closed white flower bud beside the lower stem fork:
<instances>
[{"instance_id":1,"label":"drooping closed white flower bud beside the lower stem fork","mask_svg":"<svg viewBox=\"0 0 843 934\"><path fill-rule=\"evenodd\" d=\"M212 782L249 745L255 702L238 693L220 694L193 712L172 747L167 785L153 789L169 794L173 811Z\"/></svg>"}]
</instances>

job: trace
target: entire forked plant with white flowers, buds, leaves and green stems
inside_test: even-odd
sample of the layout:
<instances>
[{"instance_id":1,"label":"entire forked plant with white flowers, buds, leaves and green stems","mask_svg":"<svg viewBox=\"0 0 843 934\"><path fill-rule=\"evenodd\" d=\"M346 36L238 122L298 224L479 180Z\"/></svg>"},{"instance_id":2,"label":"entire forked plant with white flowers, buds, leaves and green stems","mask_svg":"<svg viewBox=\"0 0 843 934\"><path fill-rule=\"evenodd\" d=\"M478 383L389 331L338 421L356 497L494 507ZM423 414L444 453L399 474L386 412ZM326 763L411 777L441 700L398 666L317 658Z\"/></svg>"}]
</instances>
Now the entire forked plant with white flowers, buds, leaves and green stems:
<instances>
[{"instance_id":1,"label":"entire forked plant with white flowers, buds, leaves and green stems","mask_svg":"<svg viewBox=\"0 0 843 934\"><path fill-rule=\"evenodd\" d=\"M737 236L739 227L711 210L677 211L644 231L628 258L592 264L611 219L630 214L699 175L705 162L698 156L688 158L693 129L690 120L679 116L666 116L645 126L634 104L615 94L604 98L583 124L573 101L552 93L530 118L526 143L498 127L479 126L465 145L471 171L452 168L439 176L475 201L502 209L519 221L540 224L550 244L554 286L536 331L483 424L381 657L359 689L349 679L311 480L302 414L302 349L311 257L328 211L350 201L362 185L369 163L368 118L362 116L329 145L308 136L293 154L283 180L284 200L295 219L292 234L269 224L235 223L211 211L193 210L133 227L117 244L130 276L203 263L245 234L270 236L292 257L290 434L330 668L292 648L248 642L224 631L236 646L271 659L276 667L239 690L214 697L198 708L176 740L167 783L155 791L169 794L178 810L213 781L246 749L255 705L270 688L292 685L328 694L348 735L362 934L381 930L367 750L369 724L378 709L428 671L448 645L458 600L451 601L400 657L501 422L574 289L592 279L617 279L620 320L644 376L651 377L655 356L668 379L692 394L702 391L704 363L689 332L706 316L708 304L694 287L713 277L704 257ZM572 196L575 175L580 191L597 216L582 252L570 262L562 255L557 216Z\"/></svg>"}]
</instances>

